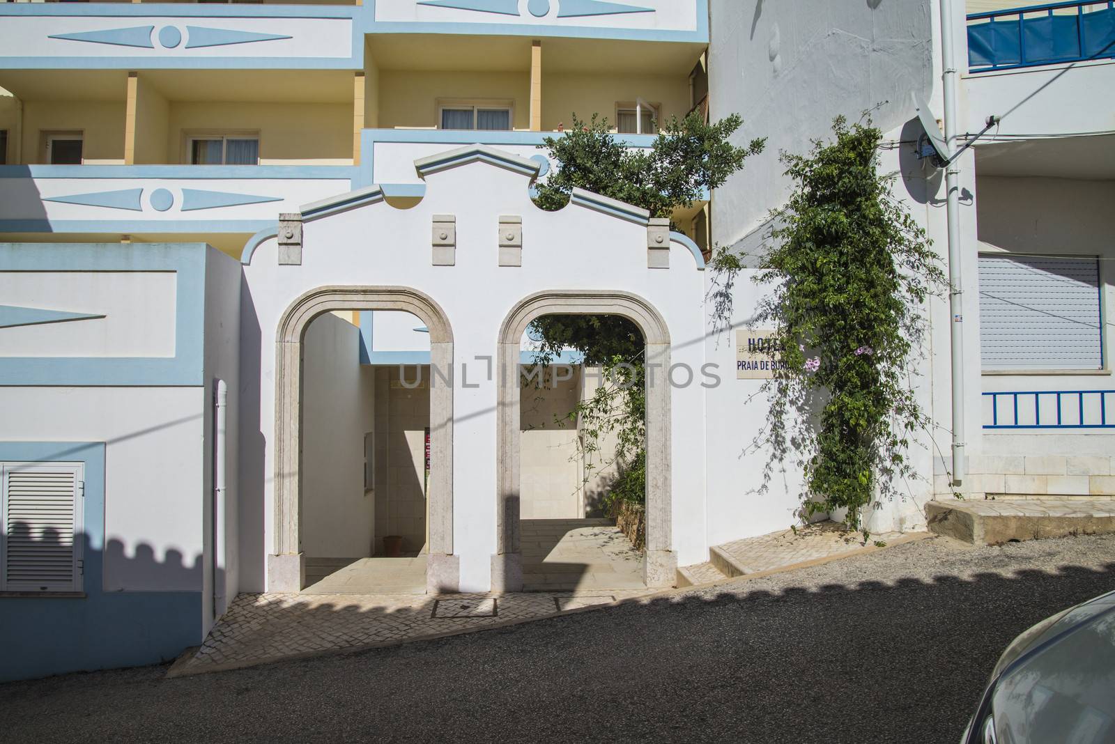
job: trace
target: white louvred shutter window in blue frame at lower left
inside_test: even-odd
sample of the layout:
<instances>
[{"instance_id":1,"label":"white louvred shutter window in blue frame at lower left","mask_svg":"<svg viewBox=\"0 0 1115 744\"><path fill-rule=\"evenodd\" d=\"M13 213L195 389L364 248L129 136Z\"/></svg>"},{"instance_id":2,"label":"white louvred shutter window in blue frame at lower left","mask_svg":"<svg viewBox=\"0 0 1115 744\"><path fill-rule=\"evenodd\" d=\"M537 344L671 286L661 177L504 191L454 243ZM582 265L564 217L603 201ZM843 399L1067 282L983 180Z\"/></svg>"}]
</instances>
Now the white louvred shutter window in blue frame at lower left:
<instances>
[{"instance_id":1,"label":"white louvred shutter window in blue frame at lower left","mask_svg":"<svg viewBox=\"0 0 1115 744\"><path fill-rule=\"evenodd\" d=\"M0 462L3 591L81 590L84 466Z\"/></svg>"}]
</instances>

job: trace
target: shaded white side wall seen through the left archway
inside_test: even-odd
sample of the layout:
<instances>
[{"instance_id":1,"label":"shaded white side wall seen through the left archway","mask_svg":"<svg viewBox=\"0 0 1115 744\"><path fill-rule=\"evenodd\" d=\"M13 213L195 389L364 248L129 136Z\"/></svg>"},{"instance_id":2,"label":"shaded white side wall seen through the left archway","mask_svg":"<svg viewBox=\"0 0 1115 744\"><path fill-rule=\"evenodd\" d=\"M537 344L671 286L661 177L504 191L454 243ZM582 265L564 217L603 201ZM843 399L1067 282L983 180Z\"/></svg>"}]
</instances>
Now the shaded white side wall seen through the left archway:
<instances>
[{"instance_id":1,"label":"shaded white side wall seen through the left archway","mask_svg":"<svg viewBox=\"0 0 1115 744\"><path fill-rule=\"evenodd\" d=\"M363 434L372 430L375 378L359 350L359 330L330 313L306 332L301 530L312 558L371 555L376 499L363 489Z\"/></svg>"}]
</instances>

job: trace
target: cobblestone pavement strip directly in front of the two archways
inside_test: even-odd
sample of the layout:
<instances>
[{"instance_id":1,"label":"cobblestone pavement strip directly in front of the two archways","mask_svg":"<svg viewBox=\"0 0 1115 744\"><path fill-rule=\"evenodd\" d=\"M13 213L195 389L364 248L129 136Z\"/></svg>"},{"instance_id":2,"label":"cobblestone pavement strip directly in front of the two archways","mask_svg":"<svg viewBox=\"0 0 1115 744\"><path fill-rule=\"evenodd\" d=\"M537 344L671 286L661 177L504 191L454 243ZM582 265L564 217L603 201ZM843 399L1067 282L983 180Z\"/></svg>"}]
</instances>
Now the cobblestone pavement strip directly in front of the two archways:
<instances>
[{"instance_id":1,"label":"cobblestone pavement strip directly in front of the two archways","mask_svg":"<svg viewBox=\"0 0 1115 744\"><path fill-rule=\"evenodd\" d=\"M169 676L455 635L651 594L641 590L429 595L242 594Z\"/></svg>"}]
</instances>

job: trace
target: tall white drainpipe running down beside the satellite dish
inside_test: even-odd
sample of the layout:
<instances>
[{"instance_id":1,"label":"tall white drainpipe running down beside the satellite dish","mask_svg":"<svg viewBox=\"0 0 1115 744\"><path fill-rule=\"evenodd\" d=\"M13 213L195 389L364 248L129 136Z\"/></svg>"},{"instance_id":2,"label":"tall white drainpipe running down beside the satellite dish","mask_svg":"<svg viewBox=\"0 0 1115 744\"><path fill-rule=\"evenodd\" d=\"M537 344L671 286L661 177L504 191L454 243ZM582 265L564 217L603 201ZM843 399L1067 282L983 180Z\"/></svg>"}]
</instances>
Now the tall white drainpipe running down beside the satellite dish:
<instances>
[{"instance_id":1,"label":"tall white drainpipe running down beside the satellite dish","mask_svg":"<svg viewBox=\"0 0 1115 744\"><path fill-rule=\"evenodd\" d=\"M941 82L944 89L946 213L949 223L949 323L952 342L952 483L964 480L964 326L963 251L960 244L960 164L957 161L957 60L952 38L952 0L941 0Z\"/></svg>"}]
</instances>

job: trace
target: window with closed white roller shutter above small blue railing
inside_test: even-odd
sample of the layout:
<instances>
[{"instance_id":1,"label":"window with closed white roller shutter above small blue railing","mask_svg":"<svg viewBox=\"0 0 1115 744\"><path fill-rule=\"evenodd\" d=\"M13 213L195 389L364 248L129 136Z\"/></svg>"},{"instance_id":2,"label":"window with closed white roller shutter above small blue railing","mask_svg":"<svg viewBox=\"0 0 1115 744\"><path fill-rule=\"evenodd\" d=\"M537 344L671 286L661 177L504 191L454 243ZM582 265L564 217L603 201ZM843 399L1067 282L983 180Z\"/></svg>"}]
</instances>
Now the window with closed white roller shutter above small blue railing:
<instances>
[{"instance_id":1,"label":"window with closed white roller shutter above small blue railing","mask_svg":"<svg viewBox=\"0 0 1115 744\"><path fill-rule=\"evenodd\" d=\"M1098 370L1099 313L1096 258L979 257L985 370Z\"/></svg>"}]
</instances>

